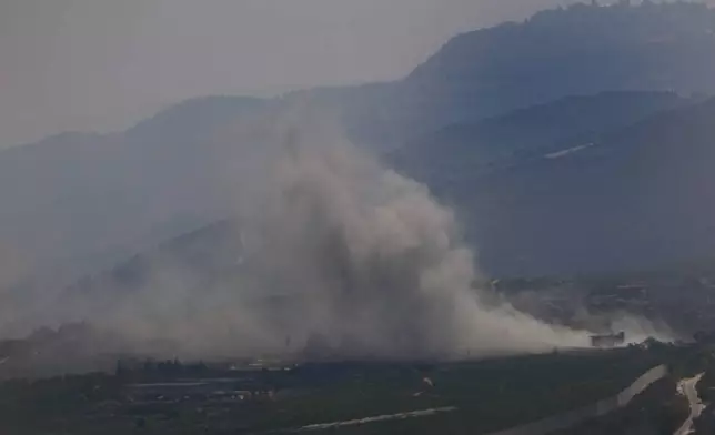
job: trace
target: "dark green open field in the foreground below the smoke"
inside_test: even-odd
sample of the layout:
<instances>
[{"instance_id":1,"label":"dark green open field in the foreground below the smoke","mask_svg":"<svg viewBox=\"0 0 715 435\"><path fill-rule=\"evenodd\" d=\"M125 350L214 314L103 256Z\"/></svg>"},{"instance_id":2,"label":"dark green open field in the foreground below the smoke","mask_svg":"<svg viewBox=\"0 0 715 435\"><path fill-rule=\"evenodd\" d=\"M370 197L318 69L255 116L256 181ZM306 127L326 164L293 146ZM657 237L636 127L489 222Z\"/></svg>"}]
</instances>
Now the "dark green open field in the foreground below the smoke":
<instances>
[{"instance_id":1,"label":"dark green open field in the foreground below the smoke","mask_svg":"<svg viewBox=\"0 0 715 435\"><path fill-rule=\"evenodd\" d=\"M331 428L345 434L482 433L613 395L683 350L623 348L461 363L331 363L191 377L88 374L0 385L3 434L284 433L303 426L426 409L449 412ZM177 364L177 363L174 363ZM164 367L164 368L165 368ZM137 385L140 383L139 385Z\"/></svg>"}]
</instances>

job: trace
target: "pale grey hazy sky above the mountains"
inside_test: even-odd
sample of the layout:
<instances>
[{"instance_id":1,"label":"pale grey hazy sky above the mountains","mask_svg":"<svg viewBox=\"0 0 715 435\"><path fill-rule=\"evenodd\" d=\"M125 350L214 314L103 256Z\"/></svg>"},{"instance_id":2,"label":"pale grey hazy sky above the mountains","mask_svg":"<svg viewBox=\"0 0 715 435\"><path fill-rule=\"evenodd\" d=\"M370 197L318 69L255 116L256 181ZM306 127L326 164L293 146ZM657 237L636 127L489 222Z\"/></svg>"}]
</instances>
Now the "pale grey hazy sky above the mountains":
<instances>
[{"instance_id":1,"label":"pale grey hazy sky above the mountains","mask_svg":"<svg viewBox=\"0 0 715 435\"><path fill-rule=\"evenodd\" d=\"M570 0L0 0L0 146L205 94L406 74L451 36Z\"/></svg>"}]
</instances>

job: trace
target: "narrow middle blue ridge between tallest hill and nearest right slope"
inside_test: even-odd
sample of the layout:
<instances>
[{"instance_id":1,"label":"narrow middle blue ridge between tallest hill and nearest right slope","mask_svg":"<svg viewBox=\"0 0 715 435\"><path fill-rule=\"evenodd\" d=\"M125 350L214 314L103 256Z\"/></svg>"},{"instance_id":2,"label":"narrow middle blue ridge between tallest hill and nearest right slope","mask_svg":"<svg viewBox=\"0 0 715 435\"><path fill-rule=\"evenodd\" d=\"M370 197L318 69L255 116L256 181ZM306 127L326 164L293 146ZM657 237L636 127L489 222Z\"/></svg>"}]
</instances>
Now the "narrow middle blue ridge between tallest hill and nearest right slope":
<instances>
[{"instance_id":1,"label":"narrow middle blue ridge between tallest hill and nearest right slope","mask_svg":"<svg viewBox=\"0 0 715 435\"><path fill-rule=\"evenodd\" d=\"M393 151L389 160L419 180L483 172L520 159L588 144L656 112L694 102L667 92L567 97L472 123L456 123ZM433 176L434 175L434 176Z\"/></svg>"}]
</instances>

